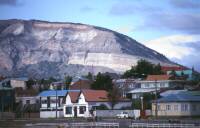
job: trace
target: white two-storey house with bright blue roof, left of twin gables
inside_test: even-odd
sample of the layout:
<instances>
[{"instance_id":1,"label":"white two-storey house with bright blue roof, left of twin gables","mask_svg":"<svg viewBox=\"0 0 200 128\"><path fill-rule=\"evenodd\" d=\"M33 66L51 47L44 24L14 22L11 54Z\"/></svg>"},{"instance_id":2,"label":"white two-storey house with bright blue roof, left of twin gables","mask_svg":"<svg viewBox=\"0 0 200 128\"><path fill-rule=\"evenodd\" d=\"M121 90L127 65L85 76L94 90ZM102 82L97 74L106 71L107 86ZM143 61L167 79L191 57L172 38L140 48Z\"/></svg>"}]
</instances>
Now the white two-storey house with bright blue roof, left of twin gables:
<instances>
[{"instance_id":1,"label":"white two-storey house with bright blue roof, left of twin gables","mask_svg":"<svg viewBox=\"0 0 200 128\"><path fill-rule=\"evenodd\" d=\"M46 90L38 96L40 99L40 118L63 117L63 99L67 92L79 90Z\"/></svg>"}]
</instances>

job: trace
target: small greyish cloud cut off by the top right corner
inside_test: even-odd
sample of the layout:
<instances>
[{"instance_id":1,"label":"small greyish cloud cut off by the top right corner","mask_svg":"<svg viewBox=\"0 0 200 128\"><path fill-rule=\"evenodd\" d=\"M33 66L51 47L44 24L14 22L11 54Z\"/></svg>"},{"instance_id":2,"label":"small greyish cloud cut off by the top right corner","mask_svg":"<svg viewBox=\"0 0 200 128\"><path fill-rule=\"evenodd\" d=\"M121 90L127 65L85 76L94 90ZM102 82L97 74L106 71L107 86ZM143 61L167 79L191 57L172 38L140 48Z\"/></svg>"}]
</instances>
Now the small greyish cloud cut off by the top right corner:
<instances>
[{"instance_id":1,"label":"small greyish cloud cut off by the top right corner","mask_svg":"<svg viewBox=\"0 0 200 128\"><path fill-rule=\"evenodd\" d=\"M170 0L170 4L176 8L182 9L199 9L199 0Z\"/></svg>"}]
</instances>

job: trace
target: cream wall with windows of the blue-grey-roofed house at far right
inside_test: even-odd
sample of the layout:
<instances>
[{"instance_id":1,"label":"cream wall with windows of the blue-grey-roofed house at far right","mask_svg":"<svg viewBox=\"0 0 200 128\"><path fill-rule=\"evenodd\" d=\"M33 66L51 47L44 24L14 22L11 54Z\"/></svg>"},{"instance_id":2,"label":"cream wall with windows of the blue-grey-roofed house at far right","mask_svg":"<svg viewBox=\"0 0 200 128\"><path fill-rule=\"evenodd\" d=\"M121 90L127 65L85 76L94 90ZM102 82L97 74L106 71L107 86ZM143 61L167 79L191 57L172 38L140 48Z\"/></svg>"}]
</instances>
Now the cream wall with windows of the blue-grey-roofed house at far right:
<instances>
[{"instance_id":1,"label":"cream wall with windows of the blue-grey-roofed house at far right","mask_svg":"<svg viewBox=\"0 0 200 128\"><path fill-rule=\"evenodd\" d=\"M155 115L155 103L152 115ZM200 116L200 102L158 103L158 116Z\"/></svg>"}]
</instances>

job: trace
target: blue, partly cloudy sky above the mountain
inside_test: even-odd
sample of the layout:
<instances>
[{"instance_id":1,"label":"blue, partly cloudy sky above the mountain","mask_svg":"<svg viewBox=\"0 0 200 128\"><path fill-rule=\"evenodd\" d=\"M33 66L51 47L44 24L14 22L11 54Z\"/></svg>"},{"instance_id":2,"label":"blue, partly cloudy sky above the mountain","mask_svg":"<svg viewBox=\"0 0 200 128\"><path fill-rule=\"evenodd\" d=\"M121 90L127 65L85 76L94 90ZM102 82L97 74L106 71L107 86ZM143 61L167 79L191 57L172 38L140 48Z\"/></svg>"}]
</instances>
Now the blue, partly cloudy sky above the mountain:
<instances>
[{"instance_id":1,"label":"blue, partly cloudy sky above the mountain","mask_svg":"<svg viewBox=\"0 0 200 128\"><path fill-rule=\"evenodd\" d=\"M200 0L0 0L0 19L108 28L200 71Z\"/></svg>"}]
</instances>

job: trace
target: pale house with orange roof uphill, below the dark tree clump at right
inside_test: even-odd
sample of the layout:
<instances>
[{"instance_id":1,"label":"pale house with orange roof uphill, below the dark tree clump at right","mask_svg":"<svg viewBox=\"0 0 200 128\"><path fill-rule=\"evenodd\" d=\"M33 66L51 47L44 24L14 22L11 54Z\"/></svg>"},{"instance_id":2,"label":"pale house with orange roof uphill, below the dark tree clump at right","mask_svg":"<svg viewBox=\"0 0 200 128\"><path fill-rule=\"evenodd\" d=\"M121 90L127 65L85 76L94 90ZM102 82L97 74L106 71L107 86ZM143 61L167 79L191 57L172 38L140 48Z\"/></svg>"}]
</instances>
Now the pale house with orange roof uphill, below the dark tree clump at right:
<instances>
[{"instance_id":1,"label":"pale house with orange roof uphill, below the dark tree clump at right","mask_svg":"<svg viewBox=\"0 0 200 128\"><path fill-rule=\"evenodd\" d=\"M181 84L180 80L170 80L170 75L148 75L146 80L139 81L140 88L174 88Z\"/></svg>"}]
</instances>

